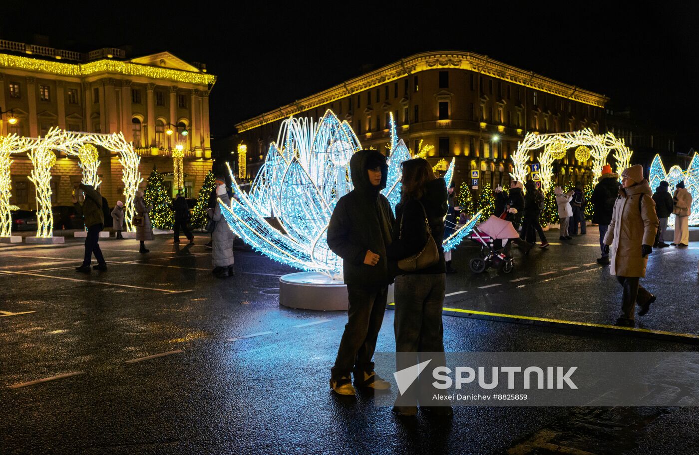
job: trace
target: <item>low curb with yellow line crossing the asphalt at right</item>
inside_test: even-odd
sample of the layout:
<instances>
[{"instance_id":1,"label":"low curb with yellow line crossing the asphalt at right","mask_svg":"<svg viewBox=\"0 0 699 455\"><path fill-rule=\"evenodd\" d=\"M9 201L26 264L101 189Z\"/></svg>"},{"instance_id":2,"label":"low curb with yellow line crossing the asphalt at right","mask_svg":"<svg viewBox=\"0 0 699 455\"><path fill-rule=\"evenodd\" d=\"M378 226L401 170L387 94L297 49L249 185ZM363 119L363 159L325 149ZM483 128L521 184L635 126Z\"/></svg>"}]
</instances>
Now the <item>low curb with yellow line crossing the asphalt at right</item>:
<instances>
[{"instance_id":1,"label":"low curb with yellow line crossing the asphalt at right","mask_svg":"<svg viewBox=\"0 0 699 455\"><path fill-rule=\"evenodd\" d=\"M387 308L394 309L395 303L389 303ZM651 328L617 327L610 324L593 324L588 322L565 321L563 319L548 319L544 317L505 315L485 311L462 310L461 308L442 308L442 315L452 317L468 317L470 319L482 319L485 321L508 322L510 324L563 328L572 331L603 333L605 335L633 336L637 338L649 338L653 340L699 345L699 335L693 333L677 333L654 330Z\"/></svg>"}]
</instances>

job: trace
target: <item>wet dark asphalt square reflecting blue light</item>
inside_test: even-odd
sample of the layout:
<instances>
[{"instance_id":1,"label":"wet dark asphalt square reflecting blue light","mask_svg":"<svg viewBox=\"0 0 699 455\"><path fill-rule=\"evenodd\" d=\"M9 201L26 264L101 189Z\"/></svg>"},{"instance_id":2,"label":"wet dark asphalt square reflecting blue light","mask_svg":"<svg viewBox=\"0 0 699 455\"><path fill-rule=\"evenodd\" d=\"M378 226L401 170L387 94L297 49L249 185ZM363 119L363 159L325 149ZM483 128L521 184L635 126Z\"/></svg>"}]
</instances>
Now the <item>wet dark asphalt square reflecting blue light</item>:
<instances>
[{"instance_id":1,"label":"wet dark asphalt square reflecting blue light","mask_svg":"<svg viewBox=\"0 0 699 455\"><path fill-rule=\"evenodd\" d=\"M0 247L0 454L699 452L695 408L456 407L451 423L405 423L371 396L339 399L327 381L345 313L280 308L278 275L292 270L254 252L236 250L236 277L218 280L206 237L196 240L175 247L158 236L147 255L134 240L103 240L109 270L87 276L73 271L82 257L76 240ZM525 259L515 252L511 277L467 273L476 250L462 248L447 293L466 292L445 306L609 322L618 284L582 266L596 258L583 246L594 240L591 233ZM648 287L663 303L643 324L696 333L696 263L697 250L651 261ZM572 266L580 269L563 270ZM530 278L511 281L520 277ZM697 349L626 333L444 321L448 351ZM377 350L395 349L392 324L389 310ZM175 353L128 363L166 352ZM71 372L82 374L10 388Z\"/></svg>"}]
</instances>

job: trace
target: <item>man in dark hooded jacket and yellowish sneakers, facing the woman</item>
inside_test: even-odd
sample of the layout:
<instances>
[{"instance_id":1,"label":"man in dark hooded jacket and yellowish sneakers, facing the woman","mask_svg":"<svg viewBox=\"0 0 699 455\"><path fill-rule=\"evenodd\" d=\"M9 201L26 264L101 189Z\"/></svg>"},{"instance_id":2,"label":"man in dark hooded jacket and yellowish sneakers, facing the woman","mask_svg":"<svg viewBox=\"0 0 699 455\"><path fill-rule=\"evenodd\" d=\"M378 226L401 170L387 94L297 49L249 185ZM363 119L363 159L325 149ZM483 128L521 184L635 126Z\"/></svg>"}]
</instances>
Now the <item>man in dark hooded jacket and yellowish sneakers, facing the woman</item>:
<instances>
[{"instance_id":1,"label":"man in dark hooded jacket and yellowish sneakers, facing the woman","mask_svg":"<svg viewBox=\"0 0 699 455\"><path fill-rule=\"evenodd\" d=\"M388 389L371 361L384 319L389 284L386 254L395 218L381 190L386 187L386 158L376 150L359 150L349 160L354 189L341 197L328 226L328 246L343 258L349 297L348 322L340 340L330 387L354 395L349 375L360 387Z\"/></svg>"}]
</instances>

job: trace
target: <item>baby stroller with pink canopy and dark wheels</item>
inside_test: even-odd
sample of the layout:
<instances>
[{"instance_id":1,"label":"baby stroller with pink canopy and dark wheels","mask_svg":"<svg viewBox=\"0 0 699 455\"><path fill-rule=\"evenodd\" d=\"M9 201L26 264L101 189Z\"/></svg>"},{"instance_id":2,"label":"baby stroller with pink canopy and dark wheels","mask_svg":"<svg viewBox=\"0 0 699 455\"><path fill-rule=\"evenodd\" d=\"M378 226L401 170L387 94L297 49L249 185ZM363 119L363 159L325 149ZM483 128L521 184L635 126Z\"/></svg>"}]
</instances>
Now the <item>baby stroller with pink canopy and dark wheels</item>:
<instances>
[{"instance_id":1,"label":"baby stroller with pink canopy and dark wheels","mask_svg":"<svg viewBox=\"0 0 699 455\"><path fill-rule=\"evenodd\" d=\"M502 273L511 273L514 258L510 256L511 238L519 238L512 223L494 215L484 223L473 228L469 238L481 245L480 257L471 259L468 266L473 273L482 273L487 268L497 268Z\"/></svg>"}]
</instances>

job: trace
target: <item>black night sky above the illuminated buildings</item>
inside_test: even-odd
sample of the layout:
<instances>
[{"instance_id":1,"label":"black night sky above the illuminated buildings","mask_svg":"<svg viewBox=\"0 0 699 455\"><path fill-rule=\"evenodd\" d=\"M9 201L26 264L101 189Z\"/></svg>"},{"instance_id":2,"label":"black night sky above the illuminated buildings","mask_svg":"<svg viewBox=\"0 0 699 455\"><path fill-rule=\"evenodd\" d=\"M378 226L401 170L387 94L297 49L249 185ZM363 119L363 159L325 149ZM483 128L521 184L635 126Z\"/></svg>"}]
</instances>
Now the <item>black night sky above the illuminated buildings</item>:
<instances>
[{"instance_id":1,"label":"black night sky above the illuminated buildings","mask_svg":"<svg viewBox=\"0 0 699 455\"><path fill-rule=\"evenodd\" d=\"M581 11L567 11L559 1L542 13L506 3L480 10L420 10L400 3L398 11L338 2L347 8L338 13L325 10L331 3L288 3L286 11L272 3L258 10L241 10L232 2L207 10L214 3L205 2L197 10L196 2L186 8L173 2L168 11L166 3L158 8L134 3L117 11L100 11L94 4L55 12L45 6L41 15L27 8L5 14L3 6L0 38L31 43L40 34L52 47L83 52L131 45L132 57L168 50L206 63L218 76L210 98L215 138L233 133L241 120L402 57L466 50L605 94L616 110L629 107L677 131L677 147L699 149L698 15L691 6L628 12L586 2L576 4ZM298 15L307 10L318 12ZM78 19L87 22L73 26Z\"/></svg>"}]
</instances>

